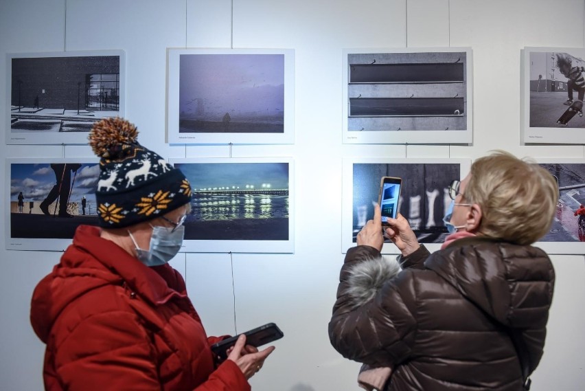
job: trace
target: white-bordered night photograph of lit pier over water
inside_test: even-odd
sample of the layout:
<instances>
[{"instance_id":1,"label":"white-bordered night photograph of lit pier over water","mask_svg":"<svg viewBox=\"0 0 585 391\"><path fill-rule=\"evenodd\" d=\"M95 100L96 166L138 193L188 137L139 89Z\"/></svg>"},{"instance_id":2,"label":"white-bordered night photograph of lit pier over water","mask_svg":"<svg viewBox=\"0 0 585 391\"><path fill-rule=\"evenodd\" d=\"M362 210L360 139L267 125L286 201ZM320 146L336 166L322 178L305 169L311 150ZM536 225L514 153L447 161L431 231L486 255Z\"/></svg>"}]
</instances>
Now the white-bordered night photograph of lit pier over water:
<instances>
[{"instance_id":1,"label":"white-bordered night photograph of lit pier over water","mask_svg":"<svg viewBox=\"0 0 585 391\"><path fill-rule=\"evenodd\" d=\"M186 252L292 253L290 158L170 159L190 181Z\"/></svg>"}]
</instances>

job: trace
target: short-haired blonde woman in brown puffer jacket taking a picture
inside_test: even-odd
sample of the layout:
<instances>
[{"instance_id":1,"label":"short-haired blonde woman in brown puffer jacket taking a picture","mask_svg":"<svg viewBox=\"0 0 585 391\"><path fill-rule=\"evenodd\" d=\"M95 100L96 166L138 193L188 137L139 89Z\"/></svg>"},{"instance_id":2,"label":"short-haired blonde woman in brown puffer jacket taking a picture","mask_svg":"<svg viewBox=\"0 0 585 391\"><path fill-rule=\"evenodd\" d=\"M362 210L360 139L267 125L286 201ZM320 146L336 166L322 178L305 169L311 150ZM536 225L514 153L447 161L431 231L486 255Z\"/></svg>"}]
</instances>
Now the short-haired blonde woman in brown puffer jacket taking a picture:
<instances>
[{"instance_id":1,"label":"short-haired blonde woman in brown puffer jacket taking a picture","mask_svg":"<svg viewBox=\"0 0 585 391\"><path fill-rule=\"evenodd\" d=\"M441 250L429 254L402 215L380 256L380 208L347 251L329 324L344 357L376 390L522 390L542 357L555 274L531 247L549 231L558 186L537 164L496 153L450 186ZM367 377L365 381L365 375Z\"/></svg>"}]
</instances>

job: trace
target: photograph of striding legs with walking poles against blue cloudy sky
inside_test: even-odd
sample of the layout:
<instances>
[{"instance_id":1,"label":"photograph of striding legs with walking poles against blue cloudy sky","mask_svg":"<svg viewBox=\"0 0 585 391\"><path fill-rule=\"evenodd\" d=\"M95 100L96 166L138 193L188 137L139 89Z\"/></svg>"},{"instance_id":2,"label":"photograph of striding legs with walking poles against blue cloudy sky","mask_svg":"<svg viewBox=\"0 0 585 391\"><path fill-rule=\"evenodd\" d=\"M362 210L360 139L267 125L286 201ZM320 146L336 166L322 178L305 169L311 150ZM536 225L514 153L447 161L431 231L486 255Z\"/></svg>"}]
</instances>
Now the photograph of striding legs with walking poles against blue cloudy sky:
<instances>
[{"instance_id":1,"label":"photograph of striding legs with walking poles against blue cloudy sky","mask_svg":"<svg viewBox=\"0 0 585 391\"><path fill-rule=\"evenodd\" d=\"M78 225L98 225L93 159L6 159L6 249L62 251Z\"/></svg>"}]
</instances>

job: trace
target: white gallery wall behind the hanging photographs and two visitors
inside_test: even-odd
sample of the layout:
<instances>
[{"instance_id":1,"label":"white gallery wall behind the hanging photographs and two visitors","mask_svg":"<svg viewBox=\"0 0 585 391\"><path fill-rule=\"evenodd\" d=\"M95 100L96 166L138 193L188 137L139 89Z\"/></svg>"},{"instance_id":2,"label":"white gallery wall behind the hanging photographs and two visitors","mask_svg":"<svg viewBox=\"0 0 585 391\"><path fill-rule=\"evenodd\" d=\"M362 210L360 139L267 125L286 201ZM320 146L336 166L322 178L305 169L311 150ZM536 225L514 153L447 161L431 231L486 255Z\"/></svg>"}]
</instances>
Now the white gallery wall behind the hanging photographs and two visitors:
<instances>
[{"instance_id":1,"label":"white gallery wall behind the hanging photographs and two visitors","mask_svg":"<svg viewBox=\"0 0 585 391\"><path fill-rule=\"evenodd\" d=\"M179 254L172 265L207 332L276 322L284 339L251 379L259 391L358 390L359 364L330 346L327 326L341 253L343 157L468 158L500 148L519 157L585 159L582 145L520 145L520 49L584 47L585 2L558 0L0 0L0 75L6 53L123 49L126 118L163 157L295 160L294 254ZM473 143L342 143L343 48L472 47ZM167 47L295 49L295 142L264 146L165 144ZM5 77L0 124L5 131ZM89 146L6 146L5 157L93 157ZM584 160L585 162L585 160ZM8 208L2 194L1 205ZM3 225L2 225L3 226ZM42 390L44 345L29 322L35 284L59 252L5 250L0 235L0 389ZM552 256L557 283L535 391L585 383L585 262ZM462 320L464 322L465 320ZM236 330L237 328L237 330ZM188 343L188 342L186 342Z\"/></svg>"}]
</instances>

